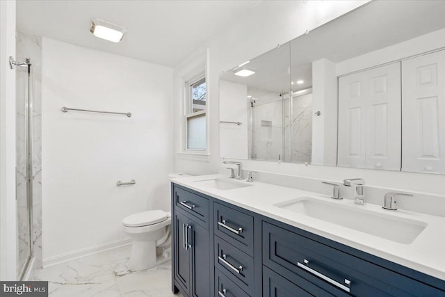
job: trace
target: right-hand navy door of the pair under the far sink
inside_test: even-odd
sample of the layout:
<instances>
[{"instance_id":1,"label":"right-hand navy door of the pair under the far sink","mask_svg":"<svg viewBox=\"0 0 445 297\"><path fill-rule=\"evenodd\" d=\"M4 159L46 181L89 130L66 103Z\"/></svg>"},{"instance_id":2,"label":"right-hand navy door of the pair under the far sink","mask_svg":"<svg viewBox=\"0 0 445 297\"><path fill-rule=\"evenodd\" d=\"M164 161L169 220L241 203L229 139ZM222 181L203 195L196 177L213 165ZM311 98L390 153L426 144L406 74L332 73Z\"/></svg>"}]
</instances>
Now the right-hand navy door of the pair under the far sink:
<instances>
[{"instance_id":1,"label":"right-hand navy door of the pair under the far sink","mask_svg":"<svg viewBox=\"0 0 445 297\"><path fill-rule=\"evenodd\" d=\"M191 245L191 296L210 296L209 230L189 220L188 239ZM212 269L213 271L213 269Z\"/></svg>"}]
</instances>

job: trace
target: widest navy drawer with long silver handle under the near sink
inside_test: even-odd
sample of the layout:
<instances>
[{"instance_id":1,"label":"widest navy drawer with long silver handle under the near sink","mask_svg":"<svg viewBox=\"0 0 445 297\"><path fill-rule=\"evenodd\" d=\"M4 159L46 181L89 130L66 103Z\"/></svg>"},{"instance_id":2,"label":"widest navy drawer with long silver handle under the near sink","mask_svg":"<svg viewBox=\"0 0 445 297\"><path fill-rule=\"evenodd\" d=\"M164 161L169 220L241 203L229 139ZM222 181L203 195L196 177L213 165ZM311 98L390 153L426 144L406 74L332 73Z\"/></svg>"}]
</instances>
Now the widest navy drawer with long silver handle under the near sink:
<instances>
[{"instance_id":1,"label":"widest navy drawer with long silver handle under the near sink","mask_svg":"<svg viewBox=\"0 0 445 297\"><path fill-rule=\"evenodd\" d=\"M263 264L296 273L335 296L444 296L444 291L263 222ZM346 283L350 281L350 285Z\"/></svg>"}]
</instances>

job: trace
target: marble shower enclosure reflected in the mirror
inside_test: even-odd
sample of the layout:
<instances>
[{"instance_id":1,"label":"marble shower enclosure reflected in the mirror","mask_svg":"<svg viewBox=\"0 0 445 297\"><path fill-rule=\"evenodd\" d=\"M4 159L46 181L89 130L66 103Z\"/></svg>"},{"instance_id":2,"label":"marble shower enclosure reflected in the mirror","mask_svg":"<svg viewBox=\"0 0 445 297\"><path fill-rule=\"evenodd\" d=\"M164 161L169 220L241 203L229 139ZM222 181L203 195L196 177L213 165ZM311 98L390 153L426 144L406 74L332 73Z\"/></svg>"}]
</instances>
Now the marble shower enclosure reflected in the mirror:
<instances>
[{"instance_id":1,"label":"marble shower enclosure reflected in the mirror","mask_svg":"<svg viewBox=\"0 0 445 297\"><path fill-rule=\"evenodd\" d=\"M255 97L248 129L250 159L278 161L280 156L286 162L311 162L312 93L292 100L291 107L286 94L263 93Z\"/></svg>"}]
</instances>

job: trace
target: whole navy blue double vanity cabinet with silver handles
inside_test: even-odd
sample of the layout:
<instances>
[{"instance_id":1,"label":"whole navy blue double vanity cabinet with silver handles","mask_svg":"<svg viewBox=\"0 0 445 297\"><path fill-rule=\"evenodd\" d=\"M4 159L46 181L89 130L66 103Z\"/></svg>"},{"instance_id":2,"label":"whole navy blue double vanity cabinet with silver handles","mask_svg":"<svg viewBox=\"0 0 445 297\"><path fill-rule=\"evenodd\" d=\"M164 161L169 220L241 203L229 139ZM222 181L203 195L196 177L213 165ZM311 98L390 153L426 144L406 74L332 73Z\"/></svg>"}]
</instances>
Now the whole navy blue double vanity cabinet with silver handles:
<instances>
[{"instance_id":1,"label":"whole navy blue double vanity cabinet with silver handles","mask_svg":"<svg viewBox=\"0 0 445 297\"><path fill-rule=\"evenodd\" d=\"M176 184L172 218L187 297L445 297L444 280Z\"/></svg>"}]
</instances>

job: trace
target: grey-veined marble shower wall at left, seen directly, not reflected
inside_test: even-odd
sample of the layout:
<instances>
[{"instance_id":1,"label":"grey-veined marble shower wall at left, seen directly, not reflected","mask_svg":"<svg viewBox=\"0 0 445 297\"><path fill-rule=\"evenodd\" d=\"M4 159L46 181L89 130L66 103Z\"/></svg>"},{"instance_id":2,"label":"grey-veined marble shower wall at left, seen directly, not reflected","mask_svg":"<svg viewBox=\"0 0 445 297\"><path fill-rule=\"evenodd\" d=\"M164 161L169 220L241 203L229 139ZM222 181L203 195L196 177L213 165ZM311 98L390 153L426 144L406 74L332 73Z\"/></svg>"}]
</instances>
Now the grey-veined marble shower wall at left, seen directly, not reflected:
<instances>
[{"instance_id":1,"label":"grey-veined marble shower wall at left, seen directly, not reflected","mask_svg":"<svg viewBox=\"0 0 445 297\"><path fill-rule=\"evenodd\" d=\"M34 268L42 266L42 38L17 32L16 61L31 59L31 92L33 100L33 256ZM29 223L26 201L26 134L25 100L27 67L17 69L17 271L29 257Z\"/></svg>"}]
</instances>

